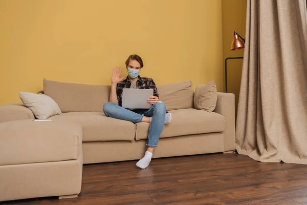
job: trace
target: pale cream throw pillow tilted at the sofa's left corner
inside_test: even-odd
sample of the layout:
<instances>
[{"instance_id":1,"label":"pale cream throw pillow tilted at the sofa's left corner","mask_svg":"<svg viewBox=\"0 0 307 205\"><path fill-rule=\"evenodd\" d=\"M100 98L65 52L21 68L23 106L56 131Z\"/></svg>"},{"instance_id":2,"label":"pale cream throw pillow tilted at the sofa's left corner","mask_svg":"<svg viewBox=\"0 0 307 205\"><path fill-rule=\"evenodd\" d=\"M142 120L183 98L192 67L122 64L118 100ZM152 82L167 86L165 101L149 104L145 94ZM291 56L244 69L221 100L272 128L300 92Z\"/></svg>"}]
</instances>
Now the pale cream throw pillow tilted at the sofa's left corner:
<instances>
[{"instance_id":1,"label":"pale cream throw pillow tilted at the sofa's left corner","mask_svg":"<svg viewBox=\"0 0 307 205\"><path fill-rule=\"evenodd\" d=\"M19 97L38 119L47 119L51 116L62 114L57 103L45 94L19 92Z\"/></svg>"}]
</instances>

